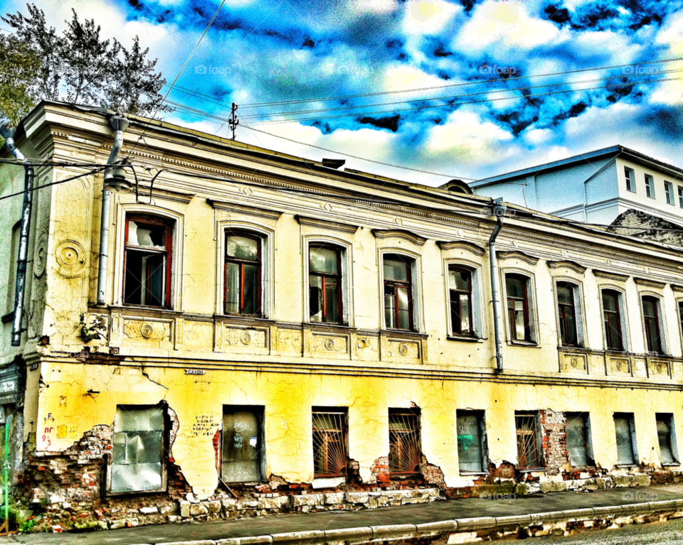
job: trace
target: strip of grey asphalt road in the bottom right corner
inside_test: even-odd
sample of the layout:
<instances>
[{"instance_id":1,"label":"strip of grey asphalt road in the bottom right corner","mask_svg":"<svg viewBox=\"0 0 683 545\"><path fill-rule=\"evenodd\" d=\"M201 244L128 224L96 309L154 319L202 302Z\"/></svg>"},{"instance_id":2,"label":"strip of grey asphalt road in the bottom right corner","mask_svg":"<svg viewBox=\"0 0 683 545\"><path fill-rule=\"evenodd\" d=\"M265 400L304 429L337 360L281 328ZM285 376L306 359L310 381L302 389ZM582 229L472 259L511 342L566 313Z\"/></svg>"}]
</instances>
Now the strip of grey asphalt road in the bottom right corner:
<instances>
[{"instance_id":1,"label":"strip of grey asphalt road in the bottom right corner","mask_svg":"<svg viewBox=\"0 0 683 545\"><path fill-rule=\"evenodd\" d=\"M524 543L529 543L525 540ZM510 545L514 541L487 541L489 544ZM631 524L614 530L589 530L570 537L541 537L531 543L538 545L655 545L683 544L683 519L651 524Z\"/></svg>"}]
</instances>

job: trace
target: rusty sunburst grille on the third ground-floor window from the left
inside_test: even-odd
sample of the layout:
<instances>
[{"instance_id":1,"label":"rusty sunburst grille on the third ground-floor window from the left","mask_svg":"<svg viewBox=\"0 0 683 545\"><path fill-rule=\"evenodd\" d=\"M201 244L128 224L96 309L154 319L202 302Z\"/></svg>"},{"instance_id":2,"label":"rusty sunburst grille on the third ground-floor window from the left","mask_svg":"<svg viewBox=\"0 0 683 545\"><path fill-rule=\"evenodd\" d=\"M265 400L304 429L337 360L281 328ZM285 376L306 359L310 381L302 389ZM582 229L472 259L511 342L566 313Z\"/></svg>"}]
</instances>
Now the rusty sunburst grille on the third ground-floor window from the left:
<instances>
[{"instance_id":1,"label":"rusty sunburst grille on the third ground-floor window from the left","mask_svg":"<svg viewBox=\"0 0 683 545\"><path fill-rule=\"evenodd\" d=\"M316 477L346 475L346 413L313 413L313 465Z\"/></svg>"}]
</instances>

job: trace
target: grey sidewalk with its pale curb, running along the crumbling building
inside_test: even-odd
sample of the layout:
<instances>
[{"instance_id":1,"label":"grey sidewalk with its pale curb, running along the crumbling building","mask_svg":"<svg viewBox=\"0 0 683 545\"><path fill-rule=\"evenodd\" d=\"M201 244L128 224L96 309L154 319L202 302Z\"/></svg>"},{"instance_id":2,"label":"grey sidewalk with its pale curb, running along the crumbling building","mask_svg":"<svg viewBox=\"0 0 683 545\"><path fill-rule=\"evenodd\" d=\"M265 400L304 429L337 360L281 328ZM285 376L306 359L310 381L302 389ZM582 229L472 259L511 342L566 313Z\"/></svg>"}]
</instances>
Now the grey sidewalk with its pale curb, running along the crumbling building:
<instances>
[{"instance_id":1,"label":"grey sidewalk with its pale curb, running along the crumbling building","mask_svg":"<svg viewBox=\"0 0 683 545\"><path fill-rule=\"evenodd\" d=\"M682 511L683 495L679 488L658 486L596 490L591 493L557 492L521 496L511 500L467 498L353 512L281 514L221 522L162 524L88 533L26 534L0 538L0 544L265 545L295 541L338 542L345 539L361 543L383 535L386 535L386 539L410 538L434 532L461 533L509 529L515 525L537 527L539 524L547 525L567 520L603 521L605 517L610 520L610 517L646 517L652 512L672 514ZM631 523L626 522L627 519L623 520L623 524ZM610 524L611 522L608 523ZM585 526L604 527L604 524L591 522ZM292 532L305 534L292 535ZM254 539L255 536L261 537ZM251 539L244 539L249 537ZM364 540L364 537L367 539ZM221 540L226 541L221 543Z\"/></svg>"}]
</instances>

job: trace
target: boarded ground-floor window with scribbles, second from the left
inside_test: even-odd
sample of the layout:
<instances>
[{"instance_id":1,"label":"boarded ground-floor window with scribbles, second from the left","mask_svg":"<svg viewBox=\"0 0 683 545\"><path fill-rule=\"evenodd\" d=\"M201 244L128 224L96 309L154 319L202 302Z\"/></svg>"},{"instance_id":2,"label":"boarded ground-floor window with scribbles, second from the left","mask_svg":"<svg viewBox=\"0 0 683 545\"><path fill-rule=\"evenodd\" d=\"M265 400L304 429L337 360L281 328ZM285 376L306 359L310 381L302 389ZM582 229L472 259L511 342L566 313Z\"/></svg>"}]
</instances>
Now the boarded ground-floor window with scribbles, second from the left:
<instances>
[{"instance_id":1,"label":"boarded ground-floor window with scribbles, second from the left","mask_svg":"<svg viewBox=\"0 0 683 545\"><path fill-rule=\"evenodd\" d=\"M262 480L263 459L263 407L224 406L223 481Z\"/></svg>"}]
</instances>

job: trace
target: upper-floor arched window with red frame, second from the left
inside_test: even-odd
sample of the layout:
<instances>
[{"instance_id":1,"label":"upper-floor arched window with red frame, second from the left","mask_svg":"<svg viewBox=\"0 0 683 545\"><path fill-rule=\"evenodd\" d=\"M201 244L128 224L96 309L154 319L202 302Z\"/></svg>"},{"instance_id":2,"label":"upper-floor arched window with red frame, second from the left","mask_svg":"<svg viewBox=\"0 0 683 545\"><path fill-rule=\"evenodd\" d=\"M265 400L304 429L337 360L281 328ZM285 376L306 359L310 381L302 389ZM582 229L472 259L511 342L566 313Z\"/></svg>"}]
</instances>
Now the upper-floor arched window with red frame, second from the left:
<instances>
[{"instance_id":1,"label":"upper-floor arched window with red frame, second from the left","mask_svg":"<svg viewBox=\"0 0 683 545\"><path fill-rule=\"evenodd\" d=\"M261 239L226 232L226 314L261 314Z\"/></svg>"}]
</instances>

